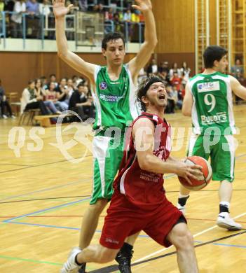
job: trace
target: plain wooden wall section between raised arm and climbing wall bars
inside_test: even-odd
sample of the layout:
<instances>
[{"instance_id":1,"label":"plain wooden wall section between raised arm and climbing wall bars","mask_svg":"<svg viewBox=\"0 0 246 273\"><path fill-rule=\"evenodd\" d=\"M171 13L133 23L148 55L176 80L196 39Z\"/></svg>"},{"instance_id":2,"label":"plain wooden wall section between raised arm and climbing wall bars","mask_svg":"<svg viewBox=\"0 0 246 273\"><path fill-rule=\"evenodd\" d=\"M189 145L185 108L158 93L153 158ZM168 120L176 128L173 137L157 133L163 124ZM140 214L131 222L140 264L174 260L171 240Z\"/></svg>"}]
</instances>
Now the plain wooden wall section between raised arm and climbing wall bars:
<instances>
[{"instance_id":1,"label":"plain wooden wall section between raised arm and climbing wall bars","mask_svg":"<svg viewBox=\"0 0 246 273\"><path fill-rule=\"evenodd\" d=\"M153 0L156 18L158 63L177 62L179 66L186 61L195 71L195 20L194 0Z\"/></svg>"}]
</instances>

